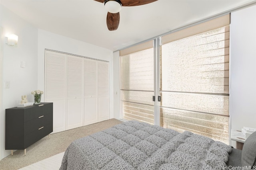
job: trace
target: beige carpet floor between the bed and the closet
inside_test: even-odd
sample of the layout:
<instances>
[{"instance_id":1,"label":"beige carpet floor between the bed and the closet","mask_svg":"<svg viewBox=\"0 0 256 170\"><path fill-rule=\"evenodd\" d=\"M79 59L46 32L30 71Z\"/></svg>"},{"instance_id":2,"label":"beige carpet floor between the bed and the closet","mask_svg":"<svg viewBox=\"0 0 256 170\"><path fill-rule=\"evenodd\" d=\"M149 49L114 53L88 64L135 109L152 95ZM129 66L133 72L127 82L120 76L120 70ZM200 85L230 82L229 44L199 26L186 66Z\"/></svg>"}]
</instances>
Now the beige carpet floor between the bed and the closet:
<instances>
[{"instance_id":1,"label":"beige carpet floor between the bed and the closet","mask_svg":"<svg viewBox=\"0 0 256 170\"><path fill-rule=\"evenodd\" d=\"M26 149L26 156L24 150L17 150L13 156L9 155L3 160L0 160L0 170L18 170L30 164L34 164L61 152L64 152L70 143L81 137L91 135L98 131L120 124L122 121L117 119L110 119L92 125L78 127L60 133L54 133L44 137L40 141L34 143Z\"/></svg>"}]
</instances>

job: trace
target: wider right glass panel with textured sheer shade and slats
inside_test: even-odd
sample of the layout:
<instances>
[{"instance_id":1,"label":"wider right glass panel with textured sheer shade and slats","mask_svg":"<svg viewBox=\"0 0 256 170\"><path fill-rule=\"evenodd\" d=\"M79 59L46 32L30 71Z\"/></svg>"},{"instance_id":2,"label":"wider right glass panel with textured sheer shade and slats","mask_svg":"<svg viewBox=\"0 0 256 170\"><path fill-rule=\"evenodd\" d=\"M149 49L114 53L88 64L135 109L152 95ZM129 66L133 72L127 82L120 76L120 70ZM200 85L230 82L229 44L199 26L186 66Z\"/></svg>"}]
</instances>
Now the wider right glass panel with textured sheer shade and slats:
<instances>
[{"instance_id":1,"label":"wider right glass panel with textured sheer shade and slats","mask_svg":"<svg viewBox=\"0 0 256 170\"><path fill-rule=\"evenodd\" d=\"M162 45L161 125L228 143L229 26Z\"/></svg>"}]
</instances>

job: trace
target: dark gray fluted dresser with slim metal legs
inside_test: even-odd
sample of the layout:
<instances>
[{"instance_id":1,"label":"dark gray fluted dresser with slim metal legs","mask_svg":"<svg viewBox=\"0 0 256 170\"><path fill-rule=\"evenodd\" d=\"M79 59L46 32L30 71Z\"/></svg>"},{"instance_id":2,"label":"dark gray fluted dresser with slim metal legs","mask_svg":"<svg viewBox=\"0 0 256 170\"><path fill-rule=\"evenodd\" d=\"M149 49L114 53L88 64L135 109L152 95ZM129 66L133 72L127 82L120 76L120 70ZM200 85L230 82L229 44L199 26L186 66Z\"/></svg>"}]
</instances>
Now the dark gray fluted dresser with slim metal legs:
<instances>
[{"instance_id":1,"label":"dark gray fluted dresser with slim metal legs","mask_svg":"<svg viewBox=\"0 0 256 170\"><path fill-rule=\"evenodd\" d=\"M53 103L13 107L6 109L5 115L6 150L24 149L26 155L27 147L52 132Z\"/></svg>"}]
</instances>

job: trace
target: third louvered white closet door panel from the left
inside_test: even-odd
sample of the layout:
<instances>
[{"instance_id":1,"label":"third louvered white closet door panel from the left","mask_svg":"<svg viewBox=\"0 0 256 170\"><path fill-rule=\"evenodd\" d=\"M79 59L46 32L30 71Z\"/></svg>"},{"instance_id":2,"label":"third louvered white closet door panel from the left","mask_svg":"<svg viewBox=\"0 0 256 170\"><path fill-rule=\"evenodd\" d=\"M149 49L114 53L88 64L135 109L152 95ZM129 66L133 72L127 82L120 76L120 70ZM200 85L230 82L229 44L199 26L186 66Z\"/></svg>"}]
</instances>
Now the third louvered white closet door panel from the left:
<instances>
[{"instance_id":1,"label":"third louvered white closet door panel from the left","mask_svg":"<svg viewBox=\"0 0 256 170\"><path fill-rule=\"evenodd\" d=\"M98 122L97 61L84 59L84 125Z\"/></svg>"}]
</instances>

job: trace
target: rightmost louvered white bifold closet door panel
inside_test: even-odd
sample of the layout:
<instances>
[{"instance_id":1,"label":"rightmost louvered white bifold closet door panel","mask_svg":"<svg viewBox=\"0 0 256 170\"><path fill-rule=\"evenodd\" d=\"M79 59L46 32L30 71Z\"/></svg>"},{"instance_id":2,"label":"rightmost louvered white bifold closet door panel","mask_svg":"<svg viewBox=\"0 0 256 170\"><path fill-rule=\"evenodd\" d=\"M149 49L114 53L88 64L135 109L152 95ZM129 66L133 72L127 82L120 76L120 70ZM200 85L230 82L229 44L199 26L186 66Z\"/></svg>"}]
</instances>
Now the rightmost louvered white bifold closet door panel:
<instances>
[{"instance_id":1,"label":"rightmost louvered white bifold closet door panel","mask_svg":"<svg viewBox=\"0 0 256 170\"><path fill-rule=\"evenodd\" d=\"M109 119L109 63L98 61L98 115L99 121Z\"/></svg>"}]
</instances>

